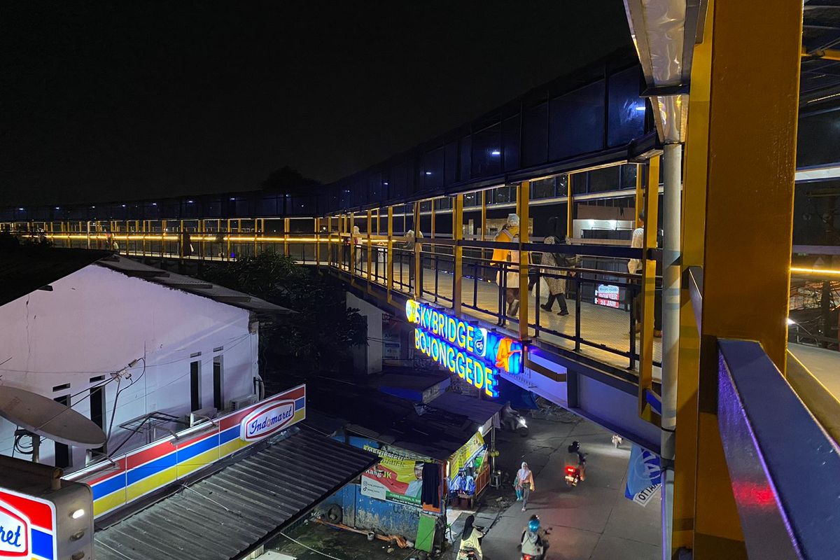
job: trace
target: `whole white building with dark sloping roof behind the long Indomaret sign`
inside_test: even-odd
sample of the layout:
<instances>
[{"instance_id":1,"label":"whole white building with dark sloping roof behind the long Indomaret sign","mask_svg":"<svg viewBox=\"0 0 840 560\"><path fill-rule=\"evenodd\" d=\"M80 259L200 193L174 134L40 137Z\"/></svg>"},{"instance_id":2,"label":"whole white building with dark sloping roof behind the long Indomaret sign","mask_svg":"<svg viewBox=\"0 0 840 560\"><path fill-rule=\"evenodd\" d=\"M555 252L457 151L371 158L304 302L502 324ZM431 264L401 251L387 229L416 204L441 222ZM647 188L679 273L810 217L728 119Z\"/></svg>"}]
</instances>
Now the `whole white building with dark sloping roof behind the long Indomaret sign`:
<instances>
[{"instance_id":1,"label":"whole white building with dark sloping roof behind the long Indomaret sign","mask_svg":"<svg viewBox=\"0 0 840 560\"><path fill-rule=\"evenodd\" d=\"M189 421L259 394L259 317L289 312L113 254L3 254L0 391L71 406L111 432L109 453L123 453L184 426L165 415ZM28 443L13 450L15 429L0 418L0 454L19 457ZM89 457L42 440L40 459L71 471Z\"/></svg>"}]
</instances>

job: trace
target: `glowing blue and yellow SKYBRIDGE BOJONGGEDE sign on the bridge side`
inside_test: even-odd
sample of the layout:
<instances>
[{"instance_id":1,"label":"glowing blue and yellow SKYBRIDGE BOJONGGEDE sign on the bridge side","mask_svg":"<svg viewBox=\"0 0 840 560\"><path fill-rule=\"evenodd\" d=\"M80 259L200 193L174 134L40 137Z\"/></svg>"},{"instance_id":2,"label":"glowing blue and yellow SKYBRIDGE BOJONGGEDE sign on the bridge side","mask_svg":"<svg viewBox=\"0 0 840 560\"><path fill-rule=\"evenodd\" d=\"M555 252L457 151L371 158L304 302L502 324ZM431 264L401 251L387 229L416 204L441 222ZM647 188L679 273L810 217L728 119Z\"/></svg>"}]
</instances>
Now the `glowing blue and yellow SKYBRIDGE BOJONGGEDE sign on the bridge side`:
<instances>
[{"instance_id":1,"label":"glowing blue and yellow SKYBRIDGE BOJONGGEDE sign on the bridge side","mask_svg":"<svg viewBox=\"0 0 840 560\"><path fill-rule=\"evenodd\" d=\"M416 325L414 348L486 395L499 396L500 371L522 372L522 343L517 340L416 300L406 302L406 317Z\"/></svg>"}]
</instances>

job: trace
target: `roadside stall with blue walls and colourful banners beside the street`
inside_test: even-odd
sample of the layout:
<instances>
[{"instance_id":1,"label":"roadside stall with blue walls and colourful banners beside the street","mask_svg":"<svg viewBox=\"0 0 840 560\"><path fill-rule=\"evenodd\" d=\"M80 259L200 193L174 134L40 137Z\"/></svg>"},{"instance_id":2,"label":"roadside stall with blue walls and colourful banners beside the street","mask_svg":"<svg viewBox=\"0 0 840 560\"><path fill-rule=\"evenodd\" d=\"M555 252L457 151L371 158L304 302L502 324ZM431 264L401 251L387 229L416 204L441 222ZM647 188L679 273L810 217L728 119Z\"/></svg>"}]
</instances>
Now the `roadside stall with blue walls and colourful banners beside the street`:
<instances>
[{"instance_id":1,"label":"roadside stall with blue walls and colourful banners beside the street","mask_svg":"<svg viewBox=\"0 0 840 560\"><path fill-rule=\"evenodd\" d=\"M488 484L486 438L492 440L501 405L449 392L426 403L358 386L340 392L339 399L322 385L312 408L341 415L344 427L334 437L380 460L325 505L338 506L333 516L345 526L400 535L430 552L444 537L449 477L470 474L470 488L459 492L467 500Z\"/></svg>"}]
</instances>

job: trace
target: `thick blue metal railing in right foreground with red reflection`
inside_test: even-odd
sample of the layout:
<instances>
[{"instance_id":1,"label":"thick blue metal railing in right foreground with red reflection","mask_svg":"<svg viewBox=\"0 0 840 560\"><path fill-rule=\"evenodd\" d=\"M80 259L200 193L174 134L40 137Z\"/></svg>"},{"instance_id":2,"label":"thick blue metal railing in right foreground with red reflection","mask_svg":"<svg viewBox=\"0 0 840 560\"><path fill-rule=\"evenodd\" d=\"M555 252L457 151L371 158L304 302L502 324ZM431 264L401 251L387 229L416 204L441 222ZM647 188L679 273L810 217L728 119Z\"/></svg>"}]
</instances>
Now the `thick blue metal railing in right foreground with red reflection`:
<instances>
[{"instance_id":1,"label":"thick blue metal railing in right foreground with red reflection","mask_svg":"<svg viewBox=\"0 0 840 560\"><path fill-rule=\"evenodd\" d=\"M759 343L717 345L718 429L749 557L840 557L837 442Z\"/></svg>"}]
</instances>

